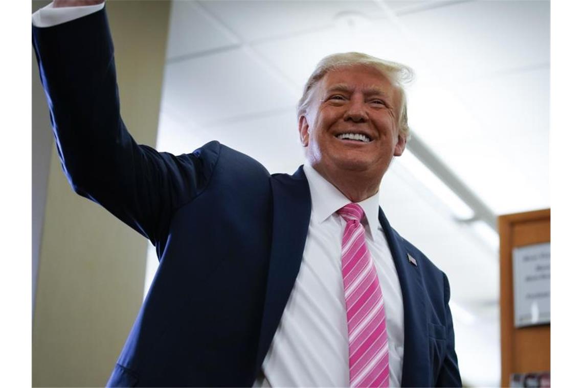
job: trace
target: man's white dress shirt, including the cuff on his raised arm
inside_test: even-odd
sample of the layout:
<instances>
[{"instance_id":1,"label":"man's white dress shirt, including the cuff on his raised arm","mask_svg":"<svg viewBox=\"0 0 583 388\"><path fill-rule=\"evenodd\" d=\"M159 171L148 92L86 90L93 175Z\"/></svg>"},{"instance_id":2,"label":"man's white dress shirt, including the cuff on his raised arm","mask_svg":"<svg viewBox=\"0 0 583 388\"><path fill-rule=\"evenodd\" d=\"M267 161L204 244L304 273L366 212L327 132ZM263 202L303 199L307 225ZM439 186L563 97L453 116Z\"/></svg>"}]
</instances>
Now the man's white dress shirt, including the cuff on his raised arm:
<instances>
[{"instance_id":1,"label":"man's white dress shirt, including the cuff on his raised arm","mask_svg":"<svg viewBox=\"0 0 583 388\"><path fill-rule=\"evenodd\" d=\"M91 6L52 8L33 14L36 27L51 27L102 9ZM348 327L341 270L346 221L336 211L348 200L310 165L304 165L312 211L296 283L254 386L347 387ZM378 221L378 193L359 205L364 209L365 238L377 270L387 314L389 385L401 386L403 364L403 296L399 277Z\"/></svg>"}]
</instances>

